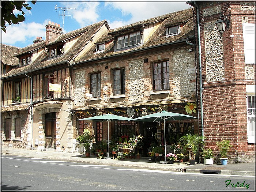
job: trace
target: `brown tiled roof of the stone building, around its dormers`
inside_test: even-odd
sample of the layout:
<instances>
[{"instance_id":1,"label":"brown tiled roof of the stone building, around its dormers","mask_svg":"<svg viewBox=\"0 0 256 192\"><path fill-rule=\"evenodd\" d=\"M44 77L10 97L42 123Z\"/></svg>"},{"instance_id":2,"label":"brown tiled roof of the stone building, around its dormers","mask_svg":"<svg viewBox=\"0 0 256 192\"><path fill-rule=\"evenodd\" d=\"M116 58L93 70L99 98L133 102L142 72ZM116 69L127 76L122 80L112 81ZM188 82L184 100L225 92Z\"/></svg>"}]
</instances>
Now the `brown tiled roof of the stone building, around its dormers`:
<instances>
[{"instance_id":1,"label":"brown tiled roof of the stone building, around its dormers","mask_svg":"<svg viewBox=\"0 0 256 192\"><path fill-rule=\"evenodd\" d=\"M182 10L178 12L173 12L170 14L158 16L156 18L147 19L141 22L133 23L131 25L127 25L124 27L119 27L117 29L112 29L109 31L105 31L105 33L98 39L97 42L104 42L109 41L111 39L114 39L110 34L117 33L118 31L123 31L126 29L131 29L134 26L137 25L146 25L149 23L154 23L157 21L162 20L161 25L158 27L158 29L153 33L153 35L148 39L147 42L144 42L141 46L121 50L121 51L115 51L114 52L114 44L109 44L106 49L103 52L96 53L95 54L95 47L92 47L86 54L84 54L83 57L81 57L76 63L83 62L83 61L89 61L91 59L100 59L108 56L115 56L121 53L129 53L131 51L135 50L142 50L144 48L150 48L157 45L163 45L171 42L176 42L182 39L187 39L189 36L193 36L193 12L192 9ZM181 33L178 35L173 36L166 36L166 26L175 24L175 23L184 23L184 27L181 30ZM72 64L75 65L76 63Z\"/></svg>"}]
</instances>

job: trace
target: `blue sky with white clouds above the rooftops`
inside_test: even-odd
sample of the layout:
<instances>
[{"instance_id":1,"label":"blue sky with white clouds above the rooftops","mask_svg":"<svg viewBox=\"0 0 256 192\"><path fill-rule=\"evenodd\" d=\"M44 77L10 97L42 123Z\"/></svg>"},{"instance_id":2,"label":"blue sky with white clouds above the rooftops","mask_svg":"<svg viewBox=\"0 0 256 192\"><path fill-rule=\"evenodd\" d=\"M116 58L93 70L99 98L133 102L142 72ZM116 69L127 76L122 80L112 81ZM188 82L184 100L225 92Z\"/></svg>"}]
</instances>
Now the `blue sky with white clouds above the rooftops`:
<instances>
[{"instance_id":1,"label":"blue sky with white clouds above the rooftops","mask_svg":"<svg viewBox=\"0 0 256 192\"><path fill-rule=\"evenodd\" d=\"M83 1L83 0L37 0L35 5L31 2L27 4L32 7L31 10L23 9L25 12L25 21L17 25L5 25L7 32L1 30L1 42L3 44L16 47L26 47L33 44L37 37L45 40L45 26L48 22L60 24L64 33L80 29L82 27L107 20L110 29L129 25L141 20L153 18L156 16L168 14L191 8L187 1ZM57 5L57 6L56 6ZM57 7L57 10L55 9ZM65 12L61 8L71 8ZM21 12L15 10L15 14ZM72 16L68 16L72 15Z\"/></svg>"}]
</instances>

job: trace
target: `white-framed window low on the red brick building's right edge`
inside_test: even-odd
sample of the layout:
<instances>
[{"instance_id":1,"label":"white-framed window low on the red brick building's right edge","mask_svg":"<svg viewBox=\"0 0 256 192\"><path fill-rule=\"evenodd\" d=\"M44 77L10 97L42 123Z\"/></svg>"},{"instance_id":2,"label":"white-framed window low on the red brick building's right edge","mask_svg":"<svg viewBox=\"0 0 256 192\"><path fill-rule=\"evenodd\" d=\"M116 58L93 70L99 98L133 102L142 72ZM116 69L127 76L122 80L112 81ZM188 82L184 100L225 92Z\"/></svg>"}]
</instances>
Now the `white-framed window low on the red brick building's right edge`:
<instances>
[{"instance_id":1,"label":"white-framed window low on the red brick building's right edge","mask_svg":"<svg viewBox=\"0 0 256 192\"><path fill-rule=\"evenodd\" d=\"M248 143L255 143L256 96L247 95L247 136Z\"/></svg>"}]
</instances>

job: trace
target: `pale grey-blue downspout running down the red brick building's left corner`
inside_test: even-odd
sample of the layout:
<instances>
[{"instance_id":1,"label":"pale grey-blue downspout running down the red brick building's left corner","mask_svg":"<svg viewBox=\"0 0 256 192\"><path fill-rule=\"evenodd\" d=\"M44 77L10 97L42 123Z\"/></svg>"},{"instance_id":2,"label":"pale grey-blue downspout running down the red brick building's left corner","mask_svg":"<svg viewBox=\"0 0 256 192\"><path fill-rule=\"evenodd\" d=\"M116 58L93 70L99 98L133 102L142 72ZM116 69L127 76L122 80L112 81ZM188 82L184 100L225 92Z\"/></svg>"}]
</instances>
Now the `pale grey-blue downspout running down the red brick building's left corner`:
<instances>
[{"instance_id":1,"label":"pale grey-blue downspout running down the red brick building's left corner","mask_svg":"<svg viewBox=\"0 0 256 192\"><path fill-rule=\"evenodd\" d=\"M204 116L203 116L203 86L202 86L202 60L201 60L201 38L200 38L200 23L199 23L199 7L194 1L196 6L197 16L197 32L198 32L198 51L199 51L199 80L200 80L200 108L201 108L201 129L202 136L204 136ZM204 139L203 139L204 140Z\"/></svg>"}]
</instances>

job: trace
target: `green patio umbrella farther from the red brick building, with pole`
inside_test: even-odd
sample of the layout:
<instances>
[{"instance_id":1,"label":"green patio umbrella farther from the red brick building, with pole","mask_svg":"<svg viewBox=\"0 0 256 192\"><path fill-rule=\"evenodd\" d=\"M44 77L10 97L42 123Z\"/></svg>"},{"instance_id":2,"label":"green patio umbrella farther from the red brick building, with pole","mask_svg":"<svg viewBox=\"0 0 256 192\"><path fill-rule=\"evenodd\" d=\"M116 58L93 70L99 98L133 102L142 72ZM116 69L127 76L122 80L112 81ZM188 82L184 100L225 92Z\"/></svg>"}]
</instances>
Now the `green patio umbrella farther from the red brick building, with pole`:
<instances>
[{"instance_id":1,"label":"green patio umbrella farther from the red brick building, with pole","mask_svg":"<svg viewBox=\"0 0 256 192\"><path fill-rule=\"evenodd\" d=\"M128 121L133 119L108 113L108 114L98 115L94 117L82 118L78 120L93 120L93 121L101 121L101 122L108 121L108 157L106 157L106 159L109 159L110 158L109 157L109 121Z\"/></svg>"}]
</instances>

